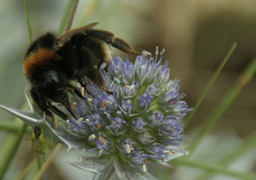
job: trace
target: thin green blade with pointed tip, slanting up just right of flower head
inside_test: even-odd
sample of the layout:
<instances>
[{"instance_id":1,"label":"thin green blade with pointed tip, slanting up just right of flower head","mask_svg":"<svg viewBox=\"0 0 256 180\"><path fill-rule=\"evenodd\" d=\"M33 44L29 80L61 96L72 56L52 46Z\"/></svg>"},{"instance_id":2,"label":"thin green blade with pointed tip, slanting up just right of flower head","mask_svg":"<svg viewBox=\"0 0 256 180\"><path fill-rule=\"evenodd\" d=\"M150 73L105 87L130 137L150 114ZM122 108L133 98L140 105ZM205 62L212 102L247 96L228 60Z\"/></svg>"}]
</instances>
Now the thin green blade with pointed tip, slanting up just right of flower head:
<instances>
[{"instance_id":1,"label":"thin green blade with pointed tip, slanting up just right of flower head","mask_svg":"<svg viewBox=\"0 0 256 180\"><path fill-rule=\"evenodd\" d=\"M232 46L230 47L229 51L227 51L227 54L223 58L222 62L219 64L219 67L215 71L214 75L211 77L211 80L209 81L209 83L207 84L207 86L204 89L203 93L201 94L201 96L199 97L198 101L196 102L195 107L194 107L194 111L189 113L189 116L188 116L188 118L187 118L187 120L185 122L185 125L184 125L183 129L185 129L187 127L187 125L190 122L191 118L194 116L196 110L198 109L199 105L202 103L202 101L203 101L204 97L206 96L207 92L211 88L212 84L215 82L216 78L219 76L220 71L222 71L222 68L225 66L225 64L227 63L227 60L229 60L231 54L235 50L235 47L237 47L237 43L233 43Z\"/></svg>"}]
</instances>

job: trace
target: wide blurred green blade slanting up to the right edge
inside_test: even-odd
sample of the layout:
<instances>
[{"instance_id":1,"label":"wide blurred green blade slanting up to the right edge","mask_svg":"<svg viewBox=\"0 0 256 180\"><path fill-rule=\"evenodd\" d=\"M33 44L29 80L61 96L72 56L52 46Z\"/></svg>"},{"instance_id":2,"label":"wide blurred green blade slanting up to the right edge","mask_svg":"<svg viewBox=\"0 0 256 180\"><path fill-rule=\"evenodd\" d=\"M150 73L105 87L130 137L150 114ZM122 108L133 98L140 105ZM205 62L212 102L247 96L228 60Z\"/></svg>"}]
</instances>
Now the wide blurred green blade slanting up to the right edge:
<instances>
[{"instance_id":1,"label":"wide blurred green blade slanting up to the right edge","mask_svg":"<svg viewBox=\"0 0 256 180\"><path fill-rule=\"evenodd\" d=\"M222 118L222 116L231 107L237 97L241 94L243 89L250 83L256 72L256 58L247 66L245 71L238 77L236 83L230 88L229 92L223 97L219 105L215 108L212 114L209 116L207 121L202 126L200 132L196 135L193 142L191 143L190 150L195 149L200 144L205 136L210 132L214 125Z\"/></svg>"}]
</instances>

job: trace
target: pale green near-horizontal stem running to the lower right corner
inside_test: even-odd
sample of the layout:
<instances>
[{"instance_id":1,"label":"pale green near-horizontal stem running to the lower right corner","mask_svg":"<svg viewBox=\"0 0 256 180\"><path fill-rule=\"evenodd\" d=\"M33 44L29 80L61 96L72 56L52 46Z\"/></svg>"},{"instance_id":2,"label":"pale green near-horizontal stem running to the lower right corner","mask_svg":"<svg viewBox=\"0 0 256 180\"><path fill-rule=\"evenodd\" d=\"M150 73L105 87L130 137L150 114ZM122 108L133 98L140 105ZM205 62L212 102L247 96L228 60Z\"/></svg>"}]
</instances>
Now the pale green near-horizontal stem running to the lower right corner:
<instances>
[{"instance_id":1,"label":"pale green near-horizontal stem running to the lower right corner","mask_svg":"<svg viewBox=\"0 0 256 180\"><path fill-rule=\"evenodd\" d=\"M256 179L256 175L252 173L242 173L237 170L230 170L227 167L222 165L212 165L212 163L195 161L195 159L192 160L189 158L182 157L182 158L173 159L172 162L191 166L191 167L199 167L200 169L204 169L208 171L215 171L217 173L229 175L235 178L243 178L248 180Z\"/></svg>"}]
</instances>

